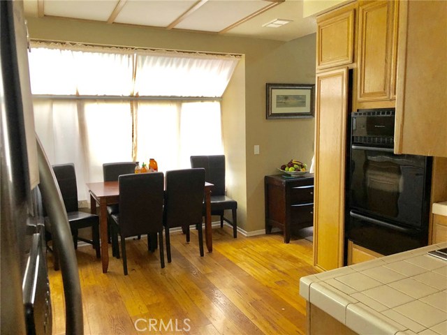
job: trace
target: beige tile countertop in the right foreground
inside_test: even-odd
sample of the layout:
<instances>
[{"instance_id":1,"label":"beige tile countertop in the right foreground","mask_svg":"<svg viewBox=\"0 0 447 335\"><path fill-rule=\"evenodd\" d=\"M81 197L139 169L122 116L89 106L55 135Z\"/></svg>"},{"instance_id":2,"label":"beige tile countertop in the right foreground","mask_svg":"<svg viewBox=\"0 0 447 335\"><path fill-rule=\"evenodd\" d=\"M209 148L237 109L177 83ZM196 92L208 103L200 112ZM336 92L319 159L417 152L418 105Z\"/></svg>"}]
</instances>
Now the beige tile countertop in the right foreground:
<instances>
[{"instance_id":1,"label":"beige tile countertop in the right foreground","mask_svg":"<svg viewBox=\"0 0 447 335\"><path fill-rule=\"evenodd\" d=\"M447 242L305 276L300 295L358 334L447 334Z\"/></svg>"}]
</instances>

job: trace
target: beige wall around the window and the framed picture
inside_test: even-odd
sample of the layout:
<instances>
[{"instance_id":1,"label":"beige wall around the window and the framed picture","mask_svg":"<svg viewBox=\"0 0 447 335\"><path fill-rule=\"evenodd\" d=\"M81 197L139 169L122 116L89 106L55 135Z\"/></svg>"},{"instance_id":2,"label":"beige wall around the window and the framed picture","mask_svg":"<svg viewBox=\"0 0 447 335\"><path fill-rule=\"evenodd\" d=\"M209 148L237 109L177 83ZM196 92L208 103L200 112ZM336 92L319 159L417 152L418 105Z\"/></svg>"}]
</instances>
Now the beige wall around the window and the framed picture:
<instances>
[{"instance_id":1,"label":"beige wall around the window and the framed picture","mask_svg":"<svg viewBox=\"0 0 447 335\"><path fill-rule=\"evenodd\" d=\"M27 20L31 38L38 40L244 54L225 93L233 100L223 105L222 119L228 195L238 201L243 230L264 228L266 174L276 174L291 158L310 164L314 119L266 120L265 83L313 84L315 34L284 43L47 17ZM253 154L254 144L260 145L260 155Z\"/></svg>"}]
</instances>

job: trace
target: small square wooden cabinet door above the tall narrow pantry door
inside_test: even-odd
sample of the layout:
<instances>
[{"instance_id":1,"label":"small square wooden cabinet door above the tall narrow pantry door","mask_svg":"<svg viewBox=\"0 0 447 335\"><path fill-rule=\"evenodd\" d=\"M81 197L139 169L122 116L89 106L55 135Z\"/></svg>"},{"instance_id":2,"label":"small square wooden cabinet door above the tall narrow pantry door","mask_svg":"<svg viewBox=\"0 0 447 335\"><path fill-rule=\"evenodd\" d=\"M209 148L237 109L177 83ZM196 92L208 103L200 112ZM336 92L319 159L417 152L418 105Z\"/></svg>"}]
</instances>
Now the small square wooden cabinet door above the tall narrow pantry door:
<instances>
[{"instance_id":1,"label":"small square wooden cabinet door above the tall narrow pantry door","mask_svg":"<svg viewBox=\"0 0 447 335\"><path fill-rule=\"evenodd\" d=\"M317 17L316 69L352 64L357 3Z\"/></svg>"}]
</instances>

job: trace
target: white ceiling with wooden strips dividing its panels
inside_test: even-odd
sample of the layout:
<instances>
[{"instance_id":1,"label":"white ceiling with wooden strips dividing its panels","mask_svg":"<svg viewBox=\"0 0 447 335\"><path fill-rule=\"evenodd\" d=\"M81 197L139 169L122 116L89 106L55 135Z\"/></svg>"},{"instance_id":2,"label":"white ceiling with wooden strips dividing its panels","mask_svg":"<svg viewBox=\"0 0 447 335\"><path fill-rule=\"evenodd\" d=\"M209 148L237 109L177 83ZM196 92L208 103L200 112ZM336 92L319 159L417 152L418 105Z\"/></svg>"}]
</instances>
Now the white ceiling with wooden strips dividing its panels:
<instances>
[{"instance_id":1,"label":"white ceiling with wooden strips dividing its panels","mask_svg":"<svg viewBox=\"0 0 447 335\"><path fill-rule=\"evenodd\" d=\"M24 0L26 16L137 24L223 36L293 40L316 31L303 0ZM275 19L292 20L277 28Z\"/></svg>"}]
</instances>

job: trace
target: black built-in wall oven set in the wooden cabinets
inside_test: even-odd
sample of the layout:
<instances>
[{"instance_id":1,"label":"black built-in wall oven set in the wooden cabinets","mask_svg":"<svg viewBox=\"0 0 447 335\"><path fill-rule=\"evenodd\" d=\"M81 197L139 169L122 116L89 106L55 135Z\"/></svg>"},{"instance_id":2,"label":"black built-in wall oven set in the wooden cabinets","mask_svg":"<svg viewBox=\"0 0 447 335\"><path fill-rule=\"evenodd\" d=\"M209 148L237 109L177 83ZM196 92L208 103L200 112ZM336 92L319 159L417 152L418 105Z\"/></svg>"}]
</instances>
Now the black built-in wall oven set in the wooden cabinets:
<instances>
[{"instance_id":1,"label":"black built-in wall oven set in the wooden cabinets","mask_svg":"<svg viewBox=\"0 0 447 335\"><path fill-rule=\"evenodd\" d=\"M394 109L351 114L346 242L382 255L426 246L430 157L395 155Z\"/></svg>"}]
</instances>

